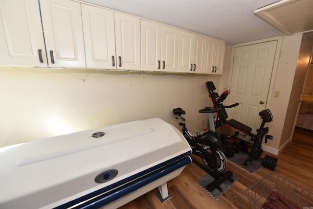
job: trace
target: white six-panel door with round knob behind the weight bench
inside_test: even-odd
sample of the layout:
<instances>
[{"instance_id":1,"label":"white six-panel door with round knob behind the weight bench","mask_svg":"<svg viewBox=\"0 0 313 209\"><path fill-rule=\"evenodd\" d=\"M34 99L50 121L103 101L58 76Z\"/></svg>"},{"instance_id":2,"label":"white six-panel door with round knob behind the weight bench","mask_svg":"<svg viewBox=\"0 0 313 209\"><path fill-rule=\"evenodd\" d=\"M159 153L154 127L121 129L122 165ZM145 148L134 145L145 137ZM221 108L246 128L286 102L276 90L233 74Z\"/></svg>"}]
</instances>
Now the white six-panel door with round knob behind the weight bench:
<instances>
[{"instance_id":1,"label":"white six-panel door with round knob behind the weight bench","mask_svg":"<svg viewBox=\"0 0 313 209\"><path fill-rule=\"evenodd\" d=\"M256 131L260 124L258 113L266 108L270 78L277 41L235 48L231 77L229 118L236 119Z\"/></svg>"}]
</instances>

